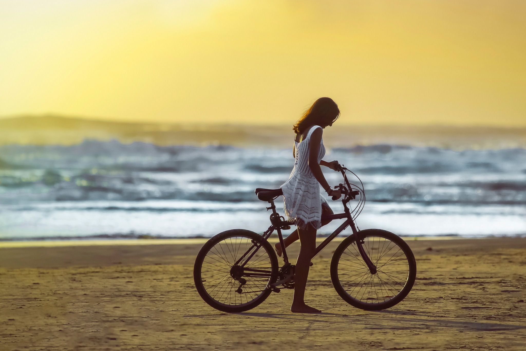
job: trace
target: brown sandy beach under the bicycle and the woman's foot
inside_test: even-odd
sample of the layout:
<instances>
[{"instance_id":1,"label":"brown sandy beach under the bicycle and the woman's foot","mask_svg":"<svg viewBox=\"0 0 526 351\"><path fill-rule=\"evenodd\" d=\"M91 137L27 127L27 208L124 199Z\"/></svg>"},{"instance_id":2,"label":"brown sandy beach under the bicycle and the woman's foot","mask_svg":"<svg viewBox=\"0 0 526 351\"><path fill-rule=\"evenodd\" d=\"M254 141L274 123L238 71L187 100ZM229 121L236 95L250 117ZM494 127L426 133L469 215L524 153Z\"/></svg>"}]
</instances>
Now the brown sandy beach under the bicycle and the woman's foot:
<instances>
[{"instance_id":1,"label":"brown sandy beach under the bicycle and the woman's foot","mask_svg":"<svg viewBox=\"0 0 526 351\"><path fill-rule=\"evenodd\" d=\"M290 313L292 290L245 313L209 307L192 277L204 242L0 244L0 349L526 348L526 238L408 240L416 283L382 312L339 298L332 243L309 275L316 315Z\"/></svg>"}]
</instances>

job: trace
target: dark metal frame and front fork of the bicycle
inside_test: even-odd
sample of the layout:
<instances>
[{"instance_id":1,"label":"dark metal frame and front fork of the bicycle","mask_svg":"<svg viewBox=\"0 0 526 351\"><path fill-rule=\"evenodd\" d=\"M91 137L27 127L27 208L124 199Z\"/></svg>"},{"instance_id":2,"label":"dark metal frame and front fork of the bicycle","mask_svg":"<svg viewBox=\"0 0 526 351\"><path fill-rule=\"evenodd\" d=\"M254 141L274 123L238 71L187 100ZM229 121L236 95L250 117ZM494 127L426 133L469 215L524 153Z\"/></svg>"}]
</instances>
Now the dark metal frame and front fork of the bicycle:
<instances>
[{"instance_id":1,"label":"dark metal frame and front fork of the bicycle","mask_svg":"<svg viewBox=\"0 0 526 351\"><path fill-rule=\"evenodd\" d=\"M350 189L349 182L347 180L347 177L345 176L345 173L343 173L343 171L342 171L342 174L344 176L344 179L346 180L346 183L347 183L346 185ZM254 256L256 254L256 252L261 247L262 243L265 242L266 240L268 240L270 235L272 235L272 233L274 233L274 230L277 230L277 232L278 232L279 243L281 244L281 247L282 247L282 253L283 253L284 262L285 262L286 265L289 263L289 259L288 259L288 256L287 256L287 250L285 248L285 244L283 242L283 236L281 234L281 229L283 227L289 227L290 228L290 226L288 225L289 224L288 222L280 219L282 217L280 217L279 213L276 211L276 206L274 204L274 199L269 201L270 207L267 207L267 210L269 210L269 209L272 210L272 214L270 215L270 222L272 224L262 234L263 240L261 240L261 242L259 242L259 243L254 243L254 246L251 246L247 250L247 252L245 252L245 254L242 255L235 263L236 266L239 266L243 270L243 273L244 273L243 275L244 276L254 276L254 277L268 277L269 276L268 270L261 269L261 268L257 269L257 268L245 267L245 265L252 258L252 256ZM341 232L343 232L344 229L346 229L348 226L350 226L351 229L352 229L352 235L356 236L356 245L358 247L358 252L360 253L360 255L361 255L362 259L364 260L364 262L367 264L367 267L369 268L369 271L371 272L371 274L376 274L376 270L377 270L376 266L372 263L371 259L369 258L369 256L367 256L365 250L363 249L363 246L362 246L363 238L360 237L360 235L359 235L360 232L356 229L356 225L355 225L355 222L352 220L349 207L347 207L347 203L349 202L349 200L350 200L350 198L348 198L348 197L345 197L345 198L342 199L343 208L345 209L345 212L338 213L338 214L326 215L326 216L322 216L321 217L322 220L325 220L325 219L331 219L331 220L332 219L343 219L343 218L346 218L346 220L334 232L332 232L331 235L329 235L325 240L323 240L323 242L320 245L318 245L318 247L316 247L315 254L313 255L313 257L316 257L321 252L321 250L323 250L323 248L325 248L336 236L338 236Z\"/></svg>"}]
</instances>

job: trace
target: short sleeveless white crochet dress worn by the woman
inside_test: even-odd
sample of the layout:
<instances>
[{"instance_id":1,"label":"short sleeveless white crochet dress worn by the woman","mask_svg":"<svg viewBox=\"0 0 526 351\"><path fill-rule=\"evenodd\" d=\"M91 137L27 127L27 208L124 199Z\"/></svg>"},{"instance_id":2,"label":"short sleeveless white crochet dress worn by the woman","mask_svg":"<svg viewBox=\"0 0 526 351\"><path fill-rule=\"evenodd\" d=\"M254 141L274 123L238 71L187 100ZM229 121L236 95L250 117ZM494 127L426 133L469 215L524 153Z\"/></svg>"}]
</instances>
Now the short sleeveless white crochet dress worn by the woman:
<instances>
[{"instance_id":1,"label":"short sleeveless white crochet dress worn by the woman","mask_svg":"<svg viewBox=\"0 0 526 351\"><path fill-rule=\"evenodd\" d=\"M294 141L296 145L294 168L287 182L280 186L283 190L285 214L288 220L294 220L300 229L306 229L309 226L319 229L321 227L321 204L327 203L325 197L320 194L320 183L310 171L308 164L310 136L316 128L321 127L312 126L305 139L300 143ZM325 156L325 146L321 139L318 164L323 156Z\"/></svg>"}]
</instances>

